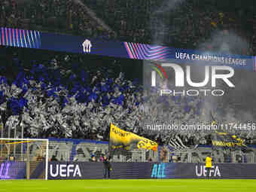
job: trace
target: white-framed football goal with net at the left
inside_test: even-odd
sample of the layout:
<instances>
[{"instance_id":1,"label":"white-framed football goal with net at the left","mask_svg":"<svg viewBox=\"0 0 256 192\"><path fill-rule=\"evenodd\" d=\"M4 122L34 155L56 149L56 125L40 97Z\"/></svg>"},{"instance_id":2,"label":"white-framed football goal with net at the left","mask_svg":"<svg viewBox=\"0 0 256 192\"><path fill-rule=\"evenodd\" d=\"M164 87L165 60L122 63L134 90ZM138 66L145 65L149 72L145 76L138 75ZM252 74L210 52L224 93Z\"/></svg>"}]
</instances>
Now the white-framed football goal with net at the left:
<instances>
[{"instance_id":1,"label":"white-framed football goal with net at the left","mask_svg":"<svg viewBox=\"0 0 256 192\"><path fill-rule=\"evenodd\" d=\"M0 179L47 180L48 139L0 138Z\"/></svg>"}]
</instances>

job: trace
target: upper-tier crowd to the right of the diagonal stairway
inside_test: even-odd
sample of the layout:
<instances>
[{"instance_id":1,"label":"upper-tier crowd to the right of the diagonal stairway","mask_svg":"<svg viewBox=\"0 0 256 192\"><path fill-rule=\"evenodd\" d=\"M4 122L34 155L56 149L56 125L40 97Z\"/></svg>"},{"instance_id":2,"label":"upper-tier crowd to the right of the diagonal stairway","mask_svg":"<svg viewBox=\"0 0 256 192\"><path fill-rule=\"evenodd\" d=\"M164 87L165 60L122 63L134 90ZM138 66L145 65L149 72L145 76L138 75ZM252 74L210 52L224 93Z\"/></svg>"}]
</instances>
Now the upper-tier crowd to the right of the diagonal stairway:
<instances>
[{"instance_id":1,"label":"upper-tier crowd to the right of the diagonal stairway","mask_svg":"<svg viewBox=\"0 0 256 192\"><path fill-rule=\"evenodd\" d=\"M84 2L115 29L122 41L215 51L221 50L221 44L226 42L232 47L227 52L250 55L254 48L255 53L252 1L233 1L232 6L230 1L215 0ZM218 32L226 36L216 39ZM233 33L236 38L228 38ZM241 44L241 41L246 43Z\"/></svg>"}]
</instances>

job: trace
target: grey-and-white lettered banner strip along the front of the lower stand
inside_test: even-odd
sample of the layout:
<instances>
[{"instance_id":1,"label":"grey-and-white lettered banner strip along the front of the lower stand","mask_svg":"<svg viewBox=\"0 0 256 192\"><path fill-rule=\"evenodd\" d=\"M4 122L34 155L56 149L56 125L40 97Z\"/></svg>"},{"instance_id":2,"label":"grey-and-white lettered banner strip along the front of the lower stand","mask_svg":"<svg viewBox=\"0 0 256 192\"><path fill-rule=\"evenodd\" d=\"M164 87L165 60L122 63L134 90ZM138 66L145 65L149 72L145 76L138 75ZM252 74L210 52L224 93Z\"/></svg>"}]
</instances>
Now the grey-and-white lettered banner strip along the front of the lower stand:
<instances>
[{"instance_id":1,"label":"grey-and-white lettered banner strip along the front of the lower stand","mask_svg":"<svg viewBox=\"0 0 256 192\"><path fill-rule=\"evenodd\" d=\"M23 144L25 145L25 144ZM23 160L23 145L0 145L0 160L7 157L15 157L16 160ZM160 146L155 151L133 150L123 155L114 155L113 162L173 162L173 163L204 163L207 155L211 154L214 163L256 163L256 150L251 148L250 153L242 151L212 151L211 148L199 147L193 150L184 149L172 151L167 146ZM38 158L37 145L31 147L30 159ZM98 142L83 139L50 139L49 160L53 157L58 161L67 162L88 162L102 160L102 156L108 154L108 142Z\"/></svg>"}]
</instances>

